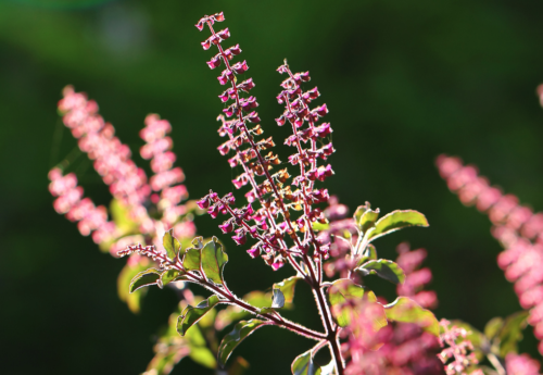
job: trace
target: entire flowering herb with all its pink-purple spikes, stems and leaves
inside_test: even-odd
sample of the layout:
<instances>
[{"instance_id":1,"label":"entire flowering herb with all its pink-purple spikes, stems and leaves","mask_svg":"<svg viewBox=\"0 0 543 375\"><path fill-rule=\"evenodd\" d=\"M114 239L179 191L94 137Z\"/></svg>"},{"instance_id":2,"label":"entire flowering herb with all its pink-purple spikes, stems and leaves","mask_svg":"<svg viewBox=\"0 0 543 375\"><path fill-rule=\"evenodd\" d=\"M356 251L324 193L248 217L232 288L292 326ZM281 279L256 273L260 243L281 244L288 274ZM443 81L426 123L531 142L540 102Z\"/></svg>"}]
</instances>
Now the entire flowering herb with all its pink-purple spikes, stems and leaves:
<instances>
[{"instance_id":1,"label":"entire flowering herb with all its pink-purple spikes, stems and leaves","mask_svg":"<svg viewBox=\"0 0 543 375\"><path fill-rule=\"evenodd\" d=\"M205 51L213 51L207 66L218 68L218 83L225 87L218 95L224 110L217 117L218 134L225 141L217 150L228 155L230 167L241 171L231 183L243 190L247 202L237 202L233 192L210 190L197 201L181 203L188 192L180 185L182 170L174 166L176 155L167 136L172 126L157 115L149 115L140 132L146 141L140 154L150 160L153 172L148 179L131 161L130 149L114 136L113 126L98 114L96 102L66 87L59 103L79 149L110 186L113 220L108 218L104 207L83 198L75 174L63 174L70 166L66 162L49 173L50 191L56 197L54 209L77 222L81 235L92 234L104 251L129 257L118 284L121 298L134 311L149 286L173 287L181 297L146 374L168 374L182 358L190 357L217 371L228 365L228 374L241 375L249 364L239 357L230 360L232 352L248 336L267 326L313 341L308 350L298 357L293 353L294 375L452 375L483 374L483 370L484 374L498 375L538 373L539 363L516 351L526 322L535 326L536 335L543 333L543 278L538 271L543 257L539 245L530 241L543 238L541 214L519 207L513 196L502 196L457 159L438 160L451 189L464 202L475 202L489 212L494 235L507 248L500 265L516 282L521 304L531 309L528 318L520 313L492 320L484 333L462 322L451 325L443 320L440 324L428 310L435 308L437 295L424 290L432 277L429 268L420 268L426 250L412 251L401 243L393 262L379 258L374 245L402 228L427 227L425 215L414 210L381 215L366 202L349 216L349 209L330 197L323 186L334 174L328 162L334 152L332 128L323 122L329 110L324 103L314 103L320 92L307 86L310 73L293 73L287 61L277 68L285 76L277 96L283 110L275 122L291 129L283 143L293 152L281 161L274 151L273 137L263 136L258 102L251 95L253 78L238 78L250 67L237 58L240 46L224 46L230 30L214 28L224 21L224 14L216 13L205 15L195 26L201 32L210 30L201 45ZM220 217L219 233L231 242L195 237L192 220L203 212ZM226 251L232 243L251 258L261 258L273 271L291 268L292 276L275 283L269 292L236 296L224 277L225 267L235 266L228 264ZM375 276L396 285L399 297L392 303L365 286L365 277ZM204 287L210 296L194 296L191 283ZM312 289L323 323L319 330L282 314L292 308L298 283L306 283ZM231 330L222 335L228 327ZM321 365L315 355L325 347L331 361ZM479 364L484 358L492 368Z\"/></svg>"}]
</instances>

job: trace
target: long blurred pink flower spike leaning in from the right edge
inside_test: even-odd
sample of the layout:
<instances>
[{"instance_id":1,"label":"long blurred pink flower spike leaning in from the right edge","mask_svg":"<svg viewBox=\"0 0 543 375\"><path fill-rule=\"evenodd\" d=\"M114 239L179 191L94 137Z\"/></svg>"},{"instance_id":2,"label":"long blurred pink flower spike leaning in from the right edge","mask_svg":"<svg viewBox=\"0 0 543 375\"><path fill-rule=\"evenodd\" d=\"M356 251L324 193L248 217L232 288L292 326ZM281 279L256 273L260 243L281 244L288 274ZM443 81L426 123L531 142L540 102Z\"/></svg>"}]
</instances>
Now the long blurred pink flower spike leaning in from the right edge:
<instances>
[{"instance_id":1,"label":"long blurred pink flower spike leaning in from the right edge","mask_svg":"<svg viewBox=\"0 0 543 375\"><path fill-rule=\"evenodd\" d=\"M479 176L475 166L464 166L458 158L441 155L437 161L440 174L449 188L465 204L475 204L489 215L492 234L505 250L497 264L506 278L515 283L520 305L530 310L528 322L534 335L543 340L543 213L533 213L518 204L518 198L503 195ZM543 341L539 345L543 353Z\"/></svg>"}]
</instances>

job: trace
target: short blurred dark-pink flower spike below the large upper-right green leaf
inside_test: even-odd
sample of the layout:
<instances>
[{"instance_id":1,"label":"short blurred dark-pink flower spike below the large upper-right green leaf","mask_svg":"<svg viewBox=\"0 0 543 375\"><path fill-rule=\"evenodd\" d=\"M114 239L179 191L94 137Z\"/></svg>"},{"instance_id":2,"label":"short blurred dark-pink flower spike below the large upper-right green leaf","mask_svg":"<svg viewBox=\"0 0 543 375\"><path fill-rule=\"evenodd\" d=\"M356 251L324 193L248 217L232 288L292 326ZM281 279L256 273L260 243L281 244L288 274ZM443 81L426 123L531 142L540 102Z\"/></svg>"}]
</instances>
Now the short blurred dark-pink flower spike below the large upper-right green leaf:
<instances>
[{"instance_id":1,"label":"short blurred dark-pink flower spike below the large upper-right green leaf","mask_svg":"<svg viewBox=\"0 0 543 375\"><path fill-rule=\"evenodd\" d=\"M400 254L396 263L405 272L404 284L399 284L396 287L397 296L409 297L422 308L435 309L438 307L438 295L435 291L422 290L432 279L430 268L419 268L427 255L426 250L409 250L409 245L402 242L397 246L396 251Z\"/></svg>"}]
</instances>

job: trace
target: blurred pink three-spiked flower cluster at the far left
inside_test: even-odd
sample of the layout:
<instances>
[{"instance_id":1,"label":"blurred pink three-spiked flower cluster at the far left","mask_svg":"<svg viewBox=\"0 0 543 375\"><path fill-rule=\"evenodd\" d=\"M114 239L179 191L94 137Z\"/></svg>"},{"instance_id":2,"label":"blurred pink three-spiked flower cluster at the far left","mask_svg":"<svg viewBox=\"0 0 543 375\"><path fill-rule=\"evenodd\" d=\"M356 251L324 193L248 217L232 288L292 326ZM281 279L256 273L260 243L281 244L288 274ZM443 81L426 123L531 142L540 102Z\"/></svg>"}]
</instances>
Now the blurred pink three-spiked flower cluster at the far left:
<instances>
[{"instance_id":1,"label":"blurred pink three-spiked flower cluster at the far left","mask_svg":"<svg viewBox=\"0 0 543 375\"><path fill-rule=\"evenodd\" d=\"M62 176L58 167L49 175L51 193L59 197L54 203L56 211L78 221L81 234L89 235L93 230L94 241L109 247L113 255L135 241L142 241L141 236L156 240L167 228L174 228L180 238L193 237L194 224L184 218L189 210L186 204L180 204L188 197L187 188L180 185L185 175L180 167L173 167L176 155L171 151L172 138L166 137L172 130L169 123L150 114L140 132L146 141L140 149L141 157L151 160L154 173L148 184L146 172L131 160L128 146L115 137L113 125L105 123L98 113L98 104L88 100L85 93L75 92L72 86L63 90L63 96L59 111L63 114L64 125L78 139L79 149L93 161L94 170L110 186L113 198L126 207L128 218L137 224L137 230L126 233L115 223L108 222L105 208L94 208L90 199L81 199L83 188L76 187L76 176L73 173ZM161 213L160 220L150 214L153 210L150 210L150 203L154 203Z\"/></svg>"}]
</instances>

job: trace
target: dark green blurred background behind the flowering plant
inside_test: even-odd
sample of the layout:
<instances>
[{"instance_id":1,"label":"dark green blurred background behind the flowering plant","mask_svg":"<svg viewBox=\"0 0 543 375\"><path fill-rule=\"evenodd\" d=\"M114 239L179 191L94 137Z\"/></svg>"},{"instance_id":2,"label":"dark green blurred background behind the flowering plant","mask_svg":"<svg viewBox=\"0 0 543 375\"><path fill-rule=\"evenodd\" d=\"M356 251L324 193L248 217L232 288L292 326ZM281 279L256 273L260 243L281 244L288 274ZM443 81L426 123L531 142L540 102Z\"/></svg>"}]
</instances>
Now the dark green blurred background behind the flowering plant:
<instances>
[{"instance_id":1,"label":"dark green blurred background behind the flowering plant","mask_svg":"<svg viewBox=\"0 0 543 375\"><path fill-rule=\"evenodd\" d=\"M75 85L100 104L136 152L150 112L174 126L178 165L192 198L226 193L232 172L216 151L223 87L210 72L193 24L223 10L253 77L266 135L281 143L288 129L273 121L288 58L310 70L328 103L336 176L332 193L352 209L370 201L382 212L416 209L431 224L376 245L395 258L408 240L428 249L438 317L482 328L518 311L495 264L500 246L490 223L464 208L440 179L434 158L462 155L505 191L543 208L543 113L534 95L543 82L543 2L528 0L359 1L0 1L0 342L2 374L137 374L152 357L154 333L176 304L151 290L136 316L117 299L124 261L97 251L91 239L54 213L48 170L75 140L55 105ZM56 132L56 133L55 133ZM281 150L286 151L286 150ZM282 153L282 160L287 154ZM136 158L140 165L146 165ZM85 157L75 171L86 193L106 204L108 189ZM197 225L218 234L209 217ZM229 241L226 239L226 241ZM238 295L265 289L274 274L230 242L226 277ZM386 282L383 282L386 283ZM393 287L377 284L392 296ZM308 288L287 315L318 328ZM523 350L535 352L527 330ZM250 374L287 374L311 342L264 328L237 351ZM181 370L184 368L184 370ZM190 360L175 374L197 374ZM204 374L204 372L201 372Z\"/></svg>"}]
</instances>

